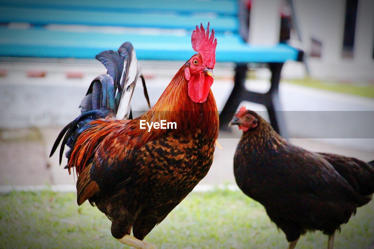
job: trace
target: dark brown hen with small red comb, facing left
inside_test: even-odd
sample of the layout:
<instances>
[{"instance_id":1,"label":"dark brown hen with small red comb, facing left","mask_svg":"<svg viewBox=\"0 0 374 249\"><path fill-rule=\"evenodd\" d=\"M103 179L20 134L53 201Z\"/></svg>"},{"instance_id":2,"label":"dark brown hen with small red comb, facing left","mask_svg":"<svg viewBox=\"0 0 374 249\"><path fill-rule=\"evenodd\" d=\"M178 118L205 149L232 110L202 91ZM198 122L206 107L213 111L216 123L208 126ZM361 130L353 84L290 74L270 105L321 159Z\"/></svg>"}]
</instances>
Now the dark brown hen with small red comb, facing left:
<instances>
[{"instance_id":1,"label":"dark brown hen with small red comb, facing left","mask_svg":"<svg viewBox=\"0 0 374 249\"><path fill-rule=\"evenodd\" d=\"M286 234L289 249L310 230L329 236L374 193L374 161L313 153L289 144L254 111L240 108L229 126L243 130L234 156L239 188L260 202Z\"/></svg>"}]
</instances>

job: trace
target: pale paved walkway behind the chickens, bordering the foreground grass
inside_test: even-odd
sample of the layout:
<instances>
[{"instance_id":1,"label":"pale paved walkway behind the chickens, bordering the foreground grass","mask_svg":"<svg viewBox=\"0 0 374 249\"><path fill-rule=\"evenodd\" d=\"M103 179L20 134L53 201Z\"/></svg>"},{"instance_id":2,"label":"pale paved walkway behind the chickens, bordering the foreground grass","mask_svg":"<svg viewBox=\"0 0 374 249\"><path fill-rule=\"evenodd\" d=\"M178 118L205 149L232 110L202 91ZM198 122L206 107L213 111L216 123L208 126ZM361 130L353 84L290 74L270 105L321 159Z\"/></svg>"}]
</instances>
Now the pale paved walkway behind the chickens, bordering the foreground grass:
<instances>
[{"instance_id":1,"label":"pale paved walkway behind the chickens, bordering the foreground grass","mask_svg":"<svg viewBox=\"0 0 374 249\"><path fill-rule=\"evenodd\" d=\"M49 158L50 148L61 128L3 130L0 133L0 186L75 184L74 176L63 169L66 158L61 166L58 153ZM218 141L224 150L216 148L212 168L200 184L235 184L232 167L238 135L239 130L233 134L220 133ZM291 142L313 151L344 154L365 161L374 159L373 151L337 147L311 139L292 139Z\"/></svg>"}]
</instances>

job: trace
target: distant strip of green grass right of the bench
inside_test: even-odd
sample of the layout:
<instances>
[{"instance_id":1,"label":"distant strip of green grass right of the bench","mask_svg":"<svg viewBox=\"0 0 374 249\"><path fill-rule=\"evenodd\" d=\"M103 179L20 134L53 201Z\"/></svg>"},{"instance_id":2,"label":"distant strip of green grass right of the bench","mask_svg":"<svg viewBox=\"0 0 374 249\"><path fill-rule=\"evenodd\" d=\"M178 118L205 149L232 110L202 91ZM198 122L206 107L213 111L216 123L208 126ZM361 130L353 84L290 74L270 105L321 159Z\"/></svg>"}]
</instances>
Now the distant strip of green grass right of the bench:
<instances>
[{"instance_id":1,"label":"distant strip of green grass right of the bench","mask_svg":"<svg viewBox=\"0 0 374 249\"><path fill-rule=\"evenodd\" d=\"M323 90L374 98L373 83L328 82L310 78L286 80L286 82Z\"/></svg>"}]
</instances>

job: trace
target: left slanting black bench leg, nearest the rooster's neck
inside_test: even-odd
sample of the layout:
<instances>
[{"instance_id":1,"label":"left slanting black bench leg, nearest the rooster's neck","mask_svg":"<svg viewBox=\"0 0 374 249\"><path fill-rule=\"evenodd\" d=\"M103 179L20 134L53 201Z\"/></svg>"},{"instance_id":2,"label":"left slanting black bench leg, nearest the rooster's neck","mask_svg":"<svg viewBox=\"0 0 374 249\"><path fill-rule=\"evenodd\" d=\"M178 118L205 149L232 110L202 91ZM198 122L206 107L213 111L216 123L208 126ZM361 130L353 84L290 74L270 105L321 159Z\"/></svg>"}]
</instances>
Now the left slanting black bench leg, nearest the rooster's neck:
<instances>
[{"instance_id":1,"label":"left slanting black bench leg, nearest the rooster's neck","mask_svg":"<svg viewBox=\"0 0 374 249\"><path fill-rule=\"evenodd\" d=\"M247 70L247 64L237 64L235 67L234 88L220 114L221 130L230 130L228 127L229 122L236 113L236 109L240 105L240 102L243 100Z\"/></svg>"}]
</instances>

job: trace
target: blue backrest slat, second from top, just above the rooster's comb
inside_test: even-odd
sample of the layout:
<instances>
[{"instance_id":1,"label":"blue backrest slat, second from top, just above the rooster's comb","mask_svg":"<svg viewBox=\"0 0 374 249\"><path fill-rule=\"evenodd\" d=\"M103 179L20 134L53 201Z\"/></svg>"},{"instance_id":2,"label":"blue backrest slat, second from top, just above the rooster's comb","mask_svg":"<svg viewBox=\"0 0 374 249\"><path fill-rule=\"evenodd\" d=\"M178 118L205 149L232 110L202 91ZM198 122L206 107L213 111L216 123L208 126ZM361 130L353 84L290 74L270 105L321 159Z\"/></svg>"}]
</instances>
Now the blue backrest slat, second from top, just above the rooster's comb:
<instances>
[{"instance_id":1,"label":"blue backrest slat, second from top, just above the rooster's comb","mask_svg":"<svg viewBox=\"0 0 374 249\"><path fill-rule=\"evenodd\" d=\"M219 16L217 18L206 16L188 16L156 13L112 13L112 12L86 12L83 10L49 10L33 8L0 7L0 22L27 22L37 25L45 24L82 24L97 26L122 27L151 27L151 28L183 28L190 30L196 24L207 24L218 32L238 29L237 19L234 17Z\"/></svg>"}]
</instances>

